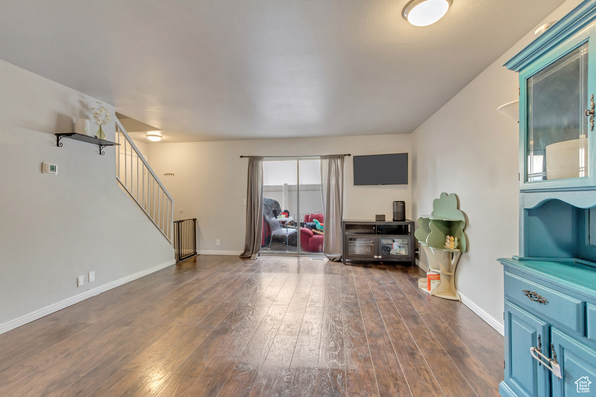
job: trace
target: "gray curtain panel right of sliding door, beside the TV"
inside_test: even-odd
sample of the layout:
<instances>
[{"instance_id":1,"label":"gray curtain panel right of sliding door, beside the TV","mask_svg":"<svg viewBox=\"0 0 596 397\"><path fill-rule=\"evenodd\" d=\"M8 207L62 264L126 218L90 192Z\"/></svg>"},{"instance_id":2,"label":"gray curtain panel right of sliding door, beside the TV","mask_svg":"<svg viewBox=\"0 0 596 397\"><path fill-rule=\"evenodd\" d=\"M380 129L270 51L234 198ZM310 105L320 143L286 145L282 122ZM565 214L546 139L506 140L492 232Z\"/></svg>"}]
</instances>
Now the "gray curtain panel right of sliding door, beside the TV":
<instances>
[{"instance_id":1,"label":"gray curtain panel right of sliding door, beside the TV","mask_svg":"<svg viewBox=\"0 0 596 397\"><path fill-rule=\"evenodd\" d=\"M323 254L330 261L342 260L343 158L343 154L321 156L325 226Z\"/></svg>"}]
</instances>

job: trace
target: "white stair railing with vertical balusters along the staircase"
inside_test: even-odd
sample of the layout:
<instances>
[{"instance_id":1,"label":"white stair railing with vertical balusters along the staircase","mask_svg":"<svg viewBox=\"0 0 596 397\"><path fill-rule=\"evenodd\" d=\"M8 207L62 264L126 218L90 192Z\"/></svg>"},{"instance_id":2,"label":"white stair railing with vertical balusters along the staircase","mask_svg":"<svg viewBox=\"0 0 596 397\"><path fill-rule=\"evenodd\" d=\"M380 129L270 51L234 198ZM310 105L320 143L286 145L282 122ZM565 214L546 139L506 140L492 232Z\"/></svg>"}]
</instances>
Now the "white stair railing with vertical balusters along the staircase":
<instances>
[{"instance_id":1,"label":"white stair railing with vertical balusters along the staircase","mask_svg":"<svg viewBox=\"0 0 596 397\"><path fill-rule=\"evenodd\" d=\"M174 201L116 119L116 179L171 244Z\"/></svg>"}]
</instances>

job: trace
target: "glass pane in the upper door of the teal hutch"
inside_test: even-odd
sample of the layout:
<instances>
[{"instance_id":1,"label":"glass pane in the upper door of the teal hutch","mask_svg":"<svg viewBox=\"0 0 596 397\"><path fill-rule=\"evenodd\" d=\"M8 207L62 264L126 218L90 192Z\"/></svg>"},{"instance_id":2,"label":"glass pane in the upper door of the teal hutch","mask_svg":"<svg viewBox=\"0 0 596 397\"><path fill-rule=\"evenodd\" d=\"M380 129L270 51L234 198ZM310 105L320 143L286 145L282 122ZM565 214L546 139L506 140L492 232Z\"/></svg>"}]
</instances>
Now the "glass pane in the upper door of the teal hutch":
<instances>
[{"instance_id":1,"label":"glass pane in the upper door of the teal hutch","mask_svg":"<svg viewBox=\"0 0 596 397\"><path fill-rule=\"evenodd\" d=\"M588 43L526 79L526 182L588 176Z\"/></svg>"}]
</instances>

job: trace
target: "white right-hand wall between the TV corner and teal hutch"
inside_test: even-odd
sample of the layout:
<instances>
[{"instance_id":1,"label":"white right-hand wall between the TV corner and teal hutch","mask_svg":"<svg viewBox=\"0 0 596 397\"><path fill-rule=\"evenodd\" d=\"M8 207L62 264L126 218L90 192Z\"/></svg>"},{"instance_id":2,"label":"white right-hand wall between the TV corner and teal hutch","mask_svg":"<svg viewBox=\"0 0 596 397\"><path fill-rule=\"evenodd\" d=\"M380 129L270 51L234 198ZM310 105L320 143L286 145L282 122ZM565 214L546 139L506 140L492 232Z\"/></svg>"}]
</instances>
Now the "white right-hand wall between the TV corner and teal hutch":
<instances>
[{"instance_id":1,"label":"white right-hand wall between the TV corner and teal hutch","mask_svg":"<svg viewBox=\"0 0 596 397\"><path fill-rule=\"evenodd\" d=\"M538 26L578 4L564 2ZM496 260L519 251L519 124L496 108L519 98L518 74L502 64L535 38L534 30L412 133L411 211L429 214L441 192L459 196L469 223L457 287L464 303L497 329L503 323L503 270ZM420 267L428 267L424 252Z\"/></svg>"}]
</instances>

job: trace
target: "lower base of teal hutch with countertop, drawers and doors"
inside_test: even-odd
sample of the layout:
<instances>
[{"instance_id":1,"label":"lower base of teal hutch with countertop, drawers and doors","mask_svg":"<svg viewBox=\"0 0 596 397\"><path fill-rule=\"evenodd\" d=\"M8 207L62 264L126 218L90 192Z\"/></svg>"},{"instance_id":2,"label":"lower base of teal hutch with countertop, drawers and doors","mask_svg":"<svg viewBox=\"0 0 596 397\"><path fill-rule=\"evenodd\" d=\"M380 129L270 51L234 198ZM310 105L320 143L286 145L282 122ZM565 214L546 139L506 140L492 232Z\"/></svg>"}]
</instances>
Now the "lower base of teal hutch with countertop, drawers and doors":
<instances>
[{"instance_id":1,"label":"lower base of teal hutch with countertop, drawers and doors","mask_svg":"<svg viewBox=\"0 0 596 397\"><path fill-rule=\"evenodd\" d=\"M501 396L571 396L578 379L596 382L596 268L520 257L499 261L505 277ZM544 358L533 357L530 348ZM549 369L555 366L560 377ZM591 390L596 393L596 383Z\"/></svg>"}]
</instances>

